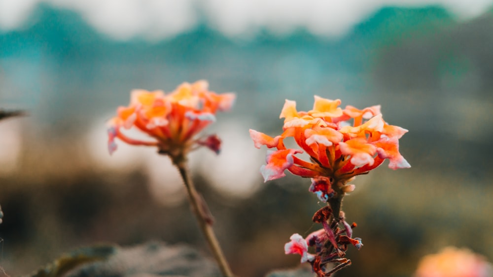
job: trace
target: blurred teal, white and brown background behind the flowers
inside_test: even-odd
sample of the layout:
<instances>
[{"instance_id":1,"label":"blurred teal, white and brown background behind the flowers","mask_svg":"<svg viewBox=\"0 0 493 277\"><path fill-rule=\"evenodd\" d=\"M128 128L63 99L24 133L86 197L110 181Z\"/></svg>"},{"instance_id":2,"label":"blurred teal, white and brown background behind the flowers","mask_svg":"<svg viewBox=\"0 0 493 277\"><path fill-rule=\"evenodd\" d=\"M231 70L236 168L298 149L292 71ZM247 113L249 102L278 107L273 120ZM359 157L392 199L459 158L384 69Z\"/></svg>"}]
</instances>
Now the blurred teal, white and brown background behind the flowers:
<instances>
[{"instance_id":1,"label":"blurred teal, white and brown background behind the flowers","mask_svg":"<svg viewBox=\"0 0 493 277\"><path fill-rule=\"evenodd\" d=\"M400 152L344 201L361 251L337 276L411 276L425 254L493 260L493 1L0 0L0 266L28 274L78 246L149 240L209 253L178 174L154 149L109 156L106 121L135 88L207 79L236 92L207 130L223 140L190 167L233 271L294 267L292 233L319 226L310 180L266 184L252 128L281 133L288 98L382 104L409 129Z\"/></svg>"}]
</instances>

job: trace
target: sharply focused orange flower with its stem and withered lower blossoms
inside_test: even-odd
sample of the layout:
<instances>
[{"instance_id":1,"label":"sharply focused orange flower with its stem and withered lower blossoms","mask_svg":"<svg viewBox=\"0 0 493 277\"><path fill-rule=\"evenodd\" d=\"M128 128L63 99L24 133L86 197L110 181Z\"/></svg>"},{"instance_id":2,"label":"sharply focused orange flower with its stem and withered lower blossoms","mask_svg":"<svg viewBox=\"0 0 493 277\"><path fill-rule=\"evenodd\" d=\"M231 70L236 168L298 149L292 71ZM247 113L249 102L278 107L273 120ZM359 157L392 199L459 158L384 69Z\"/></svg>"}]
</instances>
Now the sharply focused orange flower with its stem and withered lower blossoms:
<instances>
[{"instance_id":1,"label":"sharply focused orange flower with its stem and withered lower blossoms","mask_svg":"<svg viewBox=\"0 0 493 277\"><path fill-rule=\"evenodd\" d=\"M354 185L348 183L386 159L392 169L410 167L399 153L399 138L406 129L386 123L380 106L359 110L352 106L342 109L340 104L339 99L315 96L312 110L298 112L296 102L286 100L280 116L284 118L281 135L271 137L250 129L256 148L265 145L277 149L267 153L267 164L260 169L265 182L284 177L287 169L311 178L309 190L327 203L313 217L323 229L306 239L294 234L284 246L286 254L300 254L302 263L309 262L318 277L330 276L351 264L351 260L344 258L348 245L357 249L363 246L361 239L352 238L356 223L348 224L341 211L343 196L354 190ZM301 149L286 148L286 138L293 138ZM296 156L303 152L310 156L310 161ZM316 254L308 252L309 246L315 248ZM329 268L329 263L337 265Z\"/></svg>"}]
</instances>

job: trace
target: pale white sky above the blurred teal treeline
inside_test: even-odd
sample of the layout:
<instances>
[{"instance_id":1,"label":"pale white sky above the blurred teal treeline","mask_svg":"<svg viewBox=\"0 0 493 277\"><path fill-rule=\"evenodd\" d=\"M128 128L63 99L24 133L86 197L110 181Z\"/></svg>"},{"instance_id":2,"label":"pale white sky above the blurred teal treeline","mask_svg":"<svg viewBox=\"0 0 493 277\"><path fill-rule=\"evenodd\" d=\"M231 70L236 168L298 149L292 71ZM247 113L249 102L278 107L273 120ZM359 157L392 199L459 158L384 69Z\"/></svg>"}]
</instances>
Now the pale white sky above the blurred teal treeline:
<instances>
[{"instance_id":1,"label":"pale white sky above the blurred teal treeline","mask_svg":"<svg viewBox=\"0 0 493 277\"><path fill-rule=\"evenodd\" d=\"M493 0L0 0L0 29L18 28L39 2L79 12L115 39L161 39L192 29L203 16L228 36L252 35L259 28L287 33L306 27L338 36L384 5L442 4L459 19L477 16Z\"/></svg>"}]
</instances>

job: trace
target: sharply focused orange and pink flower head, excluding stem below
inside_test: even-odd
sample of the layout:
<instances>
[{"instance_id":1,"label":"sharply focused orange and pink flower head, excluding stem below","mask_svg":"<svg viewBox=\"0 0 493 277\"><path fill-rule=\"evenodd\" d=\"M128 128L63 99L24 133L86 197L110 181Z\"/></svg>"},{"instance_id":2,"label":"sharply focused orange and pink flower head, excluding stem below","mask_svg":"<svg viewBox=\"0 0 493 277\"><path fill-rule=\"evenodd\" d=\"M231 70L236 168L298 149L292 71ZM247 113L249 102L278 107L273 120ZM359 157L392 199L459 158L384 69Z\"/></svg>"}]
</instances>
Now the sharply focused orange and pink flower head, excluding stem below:
<instances>
[{"instance_id":1,"label":"sharply focused orange and pink flower head, excluding stem below","mask_svg":"<svg viewBox=\"0 0 493 277\"><path fill-rule=\"evenodd\" d=\"M389 160L392 169L410 167L399 153L399 138L407 132L387 124L380 106L359 110L352 106L339 107L341 100L315 96L313 109L296 110L296 102L286 100L280 118L284 132L276 137L251 130L256 148L262 145L276 148L267 154L267 165L261 173L265 181L285 176L284 170L312 178L310 191L327 202L334 194L352 191L346 185L356 175L368 173ZM284 140L294 138L301 149L287 149ZM295 154L307 153L311 161ZM339 195L340 197L341 195Z\"/></svg>"}]
</instances>

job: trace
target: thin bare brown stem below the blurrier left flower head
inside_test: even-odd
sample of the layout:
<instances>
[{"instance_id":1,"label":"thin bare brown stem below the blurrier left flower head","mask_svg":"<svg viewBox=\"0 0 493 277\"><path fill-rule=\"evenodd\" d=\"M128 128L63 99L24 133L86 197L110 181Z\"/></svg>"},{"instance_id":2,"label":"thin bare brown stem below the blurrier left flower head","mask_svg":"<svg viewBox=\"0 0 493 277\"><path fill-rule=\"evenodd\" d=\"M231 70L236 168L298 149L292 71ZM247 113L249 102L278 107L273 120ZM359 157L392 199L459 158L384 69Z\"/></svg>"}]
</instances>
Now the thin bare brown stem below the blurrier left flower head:
<instances>
[{"instance_id":1,"label":"thin bare brown stem below the blurrier left flower head","mask_svg":"<svg viewBox=\"0 0 493 277\"><path fill-rule=\"evenodd\" d=\"M190 177L188 176L188 171L186 169L186 164L184 161L175 162L176 167L178 168L181 178L183 179L183 183L188 192L188 199L190 200L190 204L192 206L192 211L199 222L200 229L202 233L206 237L207 243L211 248L212 254L216 259L217 264L219 265L219 269L225 277L234 277L231 269L222 253L221 246L219 246L219 242L214 234L214 230L212 229L212 220L209 215L209 211L205 208L205 201L200 197L193 185Z\"/></svg>"}]
</instances>

